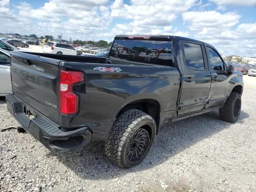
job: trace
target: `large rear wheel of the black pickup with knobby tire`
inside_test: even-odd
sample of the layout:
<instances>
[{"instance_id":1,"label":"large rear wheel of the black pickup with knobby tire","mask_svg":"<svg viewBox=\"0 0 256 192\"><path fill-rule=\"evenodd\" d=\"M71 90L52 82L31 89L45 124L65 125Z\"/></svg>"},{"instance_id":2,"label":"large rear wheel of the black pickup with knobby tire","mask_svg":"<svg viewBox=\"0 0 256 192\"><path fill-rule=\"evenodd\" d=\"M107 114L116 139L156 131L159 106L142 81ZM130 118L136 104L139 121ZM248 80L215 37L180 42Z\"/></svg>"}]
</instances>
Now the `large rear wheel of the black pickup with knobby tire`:
<instances>
[{"instance_id":1,"label":"large rear wheel of the black pickup with knobby tire","mask_svg":"<svg viewBox=\"0 0 256 192\"><path fill-rule=\"evenodd\" d=\"M148 114L131 109L120 115L105 142L105 154L117 166L130 168L140 164L156 135L156 122Z\"/></svg>"}]
</instances>

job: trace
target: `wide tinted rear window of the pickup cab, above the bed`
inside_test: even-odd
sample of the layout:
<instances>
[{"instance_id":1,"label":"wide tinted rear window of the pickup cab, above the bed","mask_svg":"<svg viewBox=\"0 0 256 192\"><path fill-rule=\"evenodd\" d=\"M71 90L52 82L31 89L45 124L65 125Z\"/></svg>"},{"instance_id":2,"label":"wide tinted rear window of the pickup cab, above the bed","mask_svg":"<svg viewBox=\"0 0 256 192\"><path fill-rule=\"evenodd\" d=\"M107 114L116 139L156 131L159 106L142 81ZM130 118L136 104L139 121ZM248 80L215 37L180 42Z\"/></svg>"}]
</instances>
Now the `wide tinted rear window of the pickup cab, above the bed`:
<instances>
[{"instance_id":1,"label":"wide tinted rear window of the pickup cab, above the bed","mask_svg":"<svg viewBox=\"0 0 256 192\"><path fill-rule=\"evenodd\" d=\"M175 67L171 41L116 39L109 58Z\"/></svg>"}]
</instances>

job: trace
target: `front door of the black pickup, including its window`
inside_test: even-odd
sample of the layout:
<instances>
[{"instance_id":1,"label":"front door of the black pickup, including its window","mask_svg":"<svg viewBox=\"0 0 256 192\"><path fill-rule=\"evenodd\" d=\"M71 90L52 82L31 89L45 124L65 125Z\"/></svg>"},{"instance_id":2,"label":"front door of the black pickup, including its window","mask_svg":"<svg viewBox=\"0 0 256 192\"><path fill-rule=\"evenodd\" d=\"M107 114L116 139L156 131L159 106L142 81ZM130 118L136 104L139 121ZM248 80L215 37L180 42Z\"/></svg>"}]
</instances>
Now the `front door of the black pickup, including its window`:
<instances>
[{"instance_id":1,"label":"front door of the black pickup, including its window","mask_svg":"<svg viewBox=\"0 0 256 192\"><path fill-rule=\"evenodd\" d=\"M228 82L226 64L220 54L210 45L205 45L205 49L212 82L207 109L221 106L226 101L231 84Z\"/></svg>"}]
</instances>

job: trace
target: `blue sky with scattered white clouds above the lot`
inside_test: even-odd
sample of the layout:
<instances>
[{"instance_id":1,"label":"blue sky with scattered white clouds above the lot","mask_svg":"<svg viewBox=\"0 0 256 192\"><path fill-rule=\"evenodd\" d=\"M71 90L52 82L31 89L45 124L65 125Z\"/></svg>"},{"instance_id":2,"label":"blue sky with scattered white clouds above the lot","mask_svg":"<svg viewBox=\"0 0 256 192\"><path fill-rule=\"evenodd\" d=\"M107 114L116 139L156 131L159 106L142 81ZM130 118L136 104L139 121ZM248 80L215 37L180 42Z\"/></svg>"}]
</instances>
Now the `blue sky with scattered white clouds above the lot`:
<instances>
[{"instance_id":1,"label":"blue sky with scattered white clouds above the lot","mask_svg":"<svg viewBox=\"0 0 256 192\"><path fill-rule=\"evenodd\" d=\"M0 32L108 42L167 34L256 57L256 0L0 0Z\"/></svg>"}]
</instances>

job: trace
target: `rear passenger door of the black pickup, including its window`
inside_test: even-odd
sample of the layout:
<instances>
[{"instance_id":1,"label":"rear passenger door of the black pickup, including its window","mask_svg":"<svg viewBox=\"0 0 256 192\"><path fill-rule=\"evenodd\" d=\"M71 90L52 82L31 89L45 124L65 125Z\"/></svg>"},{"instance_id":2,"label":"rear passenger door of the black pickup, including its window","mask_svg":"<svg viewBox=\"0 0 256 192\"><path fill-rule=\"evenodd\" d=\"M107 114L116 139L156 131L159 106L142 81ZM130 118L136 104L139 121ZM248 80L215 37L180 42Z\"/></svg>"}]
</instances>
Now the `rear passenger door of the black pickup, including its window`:
<instances>
[{"instance_id":1,"label":"rear passenger door of the black pickup, including its window","mask_svg":"<svg viewBox=\"0 0 256 192\"><path fill-rule=\"evenodd\" d=\"M208 102L211 86L204 45L191 41L182 41L180 44L183 50L183 76L178 117L202 111Z\"/></svg>"}]
</instances>

